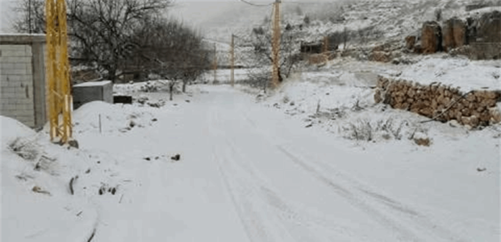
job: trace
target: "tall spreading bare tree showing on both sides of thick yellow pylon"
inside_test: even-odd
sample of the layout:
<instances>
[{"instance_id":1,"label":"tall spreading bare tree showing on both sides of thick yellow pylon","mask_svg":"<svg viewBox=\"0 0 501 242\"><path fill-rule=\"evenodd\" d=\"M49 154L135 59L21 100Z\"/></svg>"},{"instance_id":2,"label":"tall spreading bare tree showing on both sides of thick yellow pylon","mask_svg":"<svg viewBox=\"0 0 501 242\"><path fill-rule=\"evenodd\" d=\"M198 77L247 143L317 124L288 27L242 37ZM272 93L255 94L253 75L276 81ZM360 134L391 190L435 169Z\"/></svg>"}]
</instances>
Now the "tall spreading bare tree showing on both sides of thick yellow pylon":
<instances>
[{"instance_id":1,"label":"tall spreading bare tree showing on both sides of thick yellow pylon","mask_svg":"<svg viewBox=\"0 0 501 242\"><path fill-rule=\"evenodd\" d=\"M44 0L21 0L15 23L20 32L44 32ZM67 0L72 59L97 63L112 81L133 47L130 35L144 19L159 14L172 0Z\"/></svg>"}]
</instances>

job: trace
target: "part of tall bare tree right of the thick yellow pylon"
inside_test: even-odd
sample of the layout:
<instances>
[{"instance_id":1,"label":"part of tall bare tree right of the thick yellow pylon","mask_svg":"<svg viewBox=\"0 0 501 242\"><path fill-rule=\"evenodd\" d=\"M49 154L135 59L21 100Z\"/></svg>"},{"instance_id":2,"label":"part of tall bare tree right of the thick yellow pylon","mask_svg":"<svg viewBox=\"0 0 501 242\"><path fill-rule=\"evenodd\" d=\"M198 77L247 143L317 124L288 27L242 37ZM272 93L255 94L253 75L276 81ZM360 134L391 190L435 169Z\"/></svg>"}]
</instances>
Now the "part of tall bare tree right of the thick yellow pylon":
<instances>
[{"instance_id":1,"label":"part of tall bare tree right of the thick yellow pylon","mask_svg":"<svg viewBox=\"0 0 501 242\"><path fill-rule=\"evenodd\" d=\"M144 19L160 13L170 0L73 0L68 21L71 35L76 40L79 58L95 61L115 81L117 69L127 57L134 43L130 35Z\"/></svg>"}]
</instances>

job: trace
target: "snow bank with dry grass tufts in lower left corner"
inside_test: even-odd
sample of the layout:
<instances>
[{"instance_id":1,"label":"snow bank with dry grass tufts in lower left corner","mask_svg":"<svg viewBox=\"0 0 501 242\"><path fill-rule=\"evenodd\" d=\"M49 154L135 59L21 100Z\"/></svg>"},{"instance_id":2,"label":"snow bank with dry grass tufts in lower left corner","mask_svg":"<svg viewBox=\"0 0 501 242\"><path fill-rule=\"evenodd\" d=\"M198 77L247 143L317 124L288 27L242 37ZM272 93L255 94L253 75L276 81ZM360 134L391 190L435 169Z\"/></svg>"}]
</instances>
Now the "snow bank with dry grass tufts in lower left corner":
<instances>
[{"instance_id":1,"label":"snow bank with dry grass tufts in lower left corner","mask_svg":"<svg viewBox=\"0 0 501 242\"><path fill-rule=\"evenodd\" d=\"M0 240L87 241L96 210L68 188L86 163L15 119L0 116L0 121Z\"/></svg>"}]
</instances>

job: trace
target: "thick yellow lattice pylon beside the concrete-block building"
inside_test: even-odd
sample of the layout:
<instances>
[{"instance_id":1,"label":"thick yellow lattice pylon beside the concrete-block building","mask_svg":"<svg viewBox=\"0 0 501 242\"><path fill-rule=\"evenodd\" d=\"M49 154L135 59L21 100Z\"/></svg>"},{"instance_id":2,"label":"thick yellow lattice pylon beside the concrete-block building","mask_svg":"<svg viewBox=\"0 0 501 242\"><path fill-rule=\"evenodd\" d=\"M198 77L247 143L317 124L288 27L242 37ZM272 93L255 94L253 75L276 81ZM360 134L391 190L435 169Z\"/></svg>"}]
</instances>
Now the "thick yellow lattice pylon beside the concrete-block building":
<instances>
[{"instance_id":1,"label":"thick yellow lattice pylon beside the concrete-block building","mask_svg":"<svg viewBox=\"0 0 501 242\"><path fill-rule=\"evenodd\" d=\"M46 0L47 110L51 141L66 143L72 137L70 63L65 0Z\"/></svg>"}]
</instances>

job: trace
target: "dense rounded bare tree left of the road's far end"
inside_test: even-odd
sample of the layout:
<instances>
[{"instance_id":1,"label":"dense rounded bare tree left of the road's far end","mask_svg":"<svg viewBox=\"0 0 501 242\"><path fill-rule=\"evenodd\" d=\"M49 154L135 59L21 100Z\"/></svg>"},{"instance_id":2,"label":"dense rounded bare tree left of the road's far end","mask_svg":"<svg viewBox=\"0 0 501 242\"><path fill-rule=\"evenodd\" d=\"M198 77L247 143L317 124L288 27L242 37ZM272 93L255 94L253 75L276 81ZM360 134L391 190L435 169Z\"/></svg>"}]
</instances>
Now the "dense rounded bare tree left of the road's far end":
<instances>
[{"instance_id":1,"label":"dense rounded bare tree left of the road's far end","mask_svg":"<svg viewBox=\"0 0 501 242\"><path fill-rule=\"evenodd\" d=\"M134 47L124 69L153 72L169 79L169 90L181 81L182 91L210 66L202 37L176 20L145 19L132 34Z\"/></svg>"}]
</instances>

